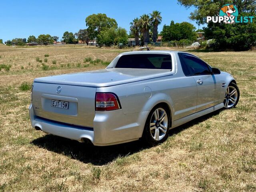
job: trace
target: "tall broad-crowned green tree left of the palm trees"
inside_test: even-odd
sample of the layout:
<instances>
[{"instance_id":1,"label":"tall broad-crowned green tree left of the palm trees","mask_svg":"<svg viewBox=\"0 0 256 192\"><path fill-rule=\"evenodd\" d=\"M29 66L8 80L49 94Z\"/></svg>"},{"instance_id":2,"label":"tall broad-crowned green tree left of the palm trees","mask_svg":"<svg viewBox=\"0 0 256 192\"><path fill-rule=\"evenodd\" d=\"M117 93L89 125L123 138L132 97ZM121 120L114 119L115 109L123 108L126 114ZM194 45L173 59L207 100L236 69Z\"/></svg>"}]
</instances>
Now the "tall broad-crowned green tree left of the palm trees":
<instances>
[{"instance_id":1,"label":"tall broad-crowned green tree left of the palm trees","mask_svg":"<svg viewBox=\"0 0 256 192\"><path fill-rule=\"evenodd\" d=\"M85 22L86 26L88 26L89 36L92 39L96 38L101 31L117 28L116 20L102 13L89 15L86 17Z\"/></svg>"}]
</instances>

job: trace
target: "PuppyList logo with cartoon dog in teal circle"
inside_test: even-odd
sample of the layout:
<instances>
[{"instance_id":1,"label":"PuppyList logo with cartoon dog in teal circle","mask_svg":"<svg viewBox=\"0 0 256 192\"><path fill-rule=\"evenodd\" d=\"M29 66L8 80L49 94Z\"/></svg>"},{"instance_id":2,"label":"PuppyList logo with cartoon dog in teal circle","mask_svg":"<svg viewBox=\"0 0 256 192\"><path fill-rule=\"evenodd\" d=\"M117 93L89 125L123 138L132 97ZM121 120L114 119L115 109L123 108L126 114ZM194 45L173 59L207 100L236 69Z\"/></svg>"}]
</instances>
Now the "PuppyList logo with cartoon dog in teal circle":
<instances>
[{"instance_id":1,"label":"PuppyList logo with cartoon dog in teal circle","mask_svg":"<svg viewBox=\"0 0 256 192\"><path fill-rule=\"evenodd\" d=\"M226 24L233 23L252 23L254 16L240 16L238 17L238 9L233 4L226 4L220 8L219 16L207 16L206 22L220 23L224 22Z\"/></svg>"}]
</instances>

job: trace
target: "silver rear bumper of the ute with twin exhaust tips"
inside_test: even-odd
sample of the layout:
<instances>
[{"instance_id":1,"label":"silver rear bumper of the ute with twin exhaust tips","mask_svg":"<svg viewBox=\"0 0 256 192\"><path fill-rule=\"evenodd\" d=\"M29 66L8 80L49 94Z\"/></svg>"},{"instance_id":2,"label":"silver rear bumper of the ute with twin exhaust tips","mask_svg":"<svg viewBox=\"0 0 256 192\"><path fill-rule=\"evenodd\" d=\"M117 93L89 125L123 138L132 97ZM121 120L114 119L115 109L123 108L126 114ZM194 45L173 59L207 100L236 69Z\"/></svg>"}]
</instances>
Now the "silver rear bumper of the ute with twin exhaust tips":
<instances>
[{"instance_id":1,"label":"silver rear bumper of the ute with twin exhaust tips","mask_svg":"<svg viewBox=\"0 0 256 192\"><path fill-rule=\"evenodd\" d=\"M29 114L33 128L79 142L88 139L96 146L107 146L138 140L142 136L148 111L130 115L124 115L120 110L96 112L93 128L40 118L35 116L32 104Z\"/></svg>"}]
</instances>

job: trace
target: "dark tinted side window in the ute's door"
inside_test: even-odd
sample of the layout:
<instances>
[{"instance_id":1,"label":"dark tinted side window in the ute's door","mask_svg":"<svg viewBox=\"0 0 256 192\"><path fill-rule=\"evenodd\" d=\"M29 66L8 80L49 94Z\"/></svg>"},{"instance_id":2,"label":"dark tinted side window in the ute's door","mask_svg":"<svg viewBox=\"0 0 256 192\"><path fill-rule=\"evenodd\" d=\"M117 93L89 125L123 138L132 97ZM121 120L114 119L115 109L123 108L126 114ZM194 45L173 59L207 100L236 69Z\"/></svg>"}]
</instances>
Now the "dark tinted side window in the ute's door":
<instances>
[{"instance_id":1,"label":"dark tinted side window in the ute's door","mask_svg":"<svg viewBox=\"0 0 256 192\"><path fill-rule=\"evenodd\" d=\"M190 56L189 54L182 54L182 60L191 75L211 74L208 65L194 56Z\"/></svg>"}]
</instances>

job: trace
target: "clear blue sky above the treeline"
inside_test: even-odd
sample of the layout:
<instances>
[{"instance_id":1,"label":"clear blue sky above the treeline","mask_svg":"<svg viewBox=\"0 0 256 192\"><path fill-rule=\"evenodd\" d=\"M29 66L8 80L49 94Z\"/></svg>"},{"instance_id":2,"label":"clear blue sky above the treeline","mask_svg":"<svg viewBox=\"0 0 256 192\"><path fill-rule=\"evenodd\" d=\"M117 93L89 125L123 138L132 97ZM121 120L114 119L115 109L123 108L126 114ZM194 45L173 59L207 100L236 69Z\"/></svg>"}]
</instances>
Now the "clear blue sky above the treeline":
<instances>
[{"instance_id":1,"label":"clear blue sky above the treeline","mask_svg":"<svg viewBox=\"0 0 256 192\"><path fill-rule=\"evenodd\" d=\"M30 35L50 34L60 39L65 31L78 32L86 28L85 18L90 14L105 13L118 26L129 32L130 22L153 10L162 15L162 23L195 21L188 17L193 8L186 9L177 0L3 0L0 10L0 39L28 38Z\"/></svg>"}]
</instances>

